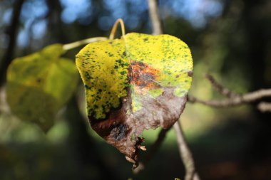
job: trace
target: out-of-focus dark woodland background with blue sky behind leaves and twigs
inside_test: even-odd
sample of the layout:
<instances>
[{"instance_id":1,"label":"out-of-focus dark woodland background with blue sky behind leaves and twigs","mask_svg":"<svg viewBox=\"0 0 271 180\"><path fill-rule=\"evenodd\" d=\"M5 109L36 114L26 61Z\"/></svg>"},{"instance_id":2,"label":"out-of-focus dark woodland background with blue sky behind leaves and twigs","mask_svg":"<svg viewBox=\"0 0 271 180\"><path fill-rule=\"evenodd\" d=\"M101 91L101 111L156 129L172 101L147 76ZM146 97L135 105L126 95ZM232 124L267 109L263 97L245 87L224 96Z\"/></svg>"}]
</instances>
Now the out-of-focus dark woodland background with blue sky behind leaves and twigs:
<instances>
[{"instance_id":1,"label":"out-of-focus dark woodland background with blue sky behind leaves and twigs","mask_svg":"<svg viewBox=\"0 0 271 180\"><path fill-rule=\"evenodd\" d=\"M271 87L271 1L160 0L158 6L164 33L192 51L190 95L223 98L205 73L237 93ZM117 18L127 32L152 32L146 0L1 0L1 84L13 58L52 43L108 36ZM64 56L74 60L81 48ZM145 169L133 174L123 154L90 128L84 103L79 83L47 134L1 106L0 179L183 178L173 130ZM271 113L253 105L214 109L188 103L181 123L202 179L271 179ZM145 132L147 149L158 132Z\"/></svg>"}]
</instances>

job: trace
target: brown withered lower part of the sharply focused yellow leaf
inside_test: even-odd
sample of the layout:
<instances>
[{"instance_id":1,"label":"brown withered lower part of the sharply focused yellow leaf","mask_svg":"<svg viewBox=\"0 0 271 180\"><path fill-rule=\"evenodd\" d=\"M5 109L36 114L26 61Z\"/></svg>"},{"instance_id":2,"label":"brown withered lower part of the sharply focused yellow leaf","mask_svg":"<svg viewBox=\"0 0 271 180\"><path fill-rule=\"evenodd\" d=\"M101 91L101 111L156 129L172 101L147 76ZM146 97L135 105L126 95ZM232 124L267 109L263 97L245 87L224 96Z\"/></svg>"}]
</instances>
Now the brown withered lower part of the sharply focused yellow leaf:
<instances>
[{"instance_id":1,"label":"brown withered lower part of the sharply focused yellow leaf","mask_svg":"<svg viewBox=\"0 0 271 180\"><path fill-rule=\"evenodd\" d=\"M163 94L156 99L143 98L143 108L133 114L127 113L131 110L130 94L128 99L123 98L121 109L111 111L105 120L89 117L91 127L106 139L106 142L126 154L126 159L134 162L133 168L136 168L140 149L145 150L141 145L144 140L140 137L143 130L157 127L168 129L184 110L186 95L175 97L173 93L174 88L165 88Z\"/></svg>"}]
</instances>

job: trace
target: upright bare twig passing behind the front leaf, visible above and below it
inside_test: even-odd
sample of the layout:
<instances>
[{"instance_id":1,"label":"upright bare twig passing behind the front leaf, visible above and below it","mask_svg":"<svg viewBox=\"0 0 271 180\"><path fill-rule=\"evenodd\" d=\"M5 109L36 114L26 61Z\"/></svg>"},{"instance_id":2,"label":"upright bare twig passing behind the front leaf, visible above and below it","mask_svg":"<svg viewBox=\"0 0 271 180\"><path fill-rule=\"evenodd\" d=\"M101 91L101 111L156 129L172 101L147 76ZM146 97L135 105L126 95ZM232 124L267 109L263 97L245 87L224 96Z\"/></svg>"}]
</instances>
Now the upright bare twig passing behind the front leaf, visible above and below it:
<instances>
[{"instance_id":1,"label":"upright bare twig passing behind the front leaf, visible above and below it","mask_svg":"<svg viewBox=\"0 0 271 180\"><path fill-rule=\"evenodd\" d=\"M150 11L150 18L153 23L153 34L160 34L163 33L161 23L160 23L160 18L158 14L158 9L157 9L157 4L155 0L148 0L149 4L149 11ZM190 149L185 142L185 137L183 136L183 131L180 127L179 122L175 122L175 125L173 125L176 133L176 137L178 139L178 148L180 152L180 157L183 159L183 164L185 165L185 180L199 180L199 176L197 172L195 171L195 166L194 166L194 160L192 157L192 154L190 152ZM160 143L163 142L165 135L163 136L162 139L160 139ZM159 139L159 138L158 138ZM155 148L155 150L158 148Z\"/></svg>"}]
</instances>

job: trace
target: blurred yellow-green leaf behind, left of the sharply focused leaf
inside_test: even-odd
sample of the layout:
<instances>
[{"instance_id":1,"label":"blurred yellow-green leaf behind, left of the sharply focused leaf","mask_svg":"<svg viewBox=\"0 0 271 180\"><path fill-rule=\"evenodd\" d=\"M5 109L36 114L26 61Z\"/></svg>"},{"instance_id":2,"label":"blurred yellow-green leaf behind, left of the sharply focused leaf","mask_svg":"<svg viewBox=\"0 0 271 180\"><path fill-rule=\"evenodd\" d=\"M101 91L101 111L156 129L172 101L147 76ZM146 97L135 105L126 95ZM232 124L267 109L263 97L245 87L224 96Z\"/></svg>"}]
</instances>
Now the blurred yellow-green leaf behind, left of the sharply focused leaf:
<instances>
[{"instance_id":1,"label":"blurred yellow-green leaf behind, left of the sharply focused leaf","mask_svg":"<svg viewBox=\"0 0 271 180\"><path fill-rule=\"evenodd\" d=\"M7 73L7 101L21 120L34 122L46 132L56 112L76 90L76 65L60 56L61 44L16 58Z\"/></svg>"}]
</instances>

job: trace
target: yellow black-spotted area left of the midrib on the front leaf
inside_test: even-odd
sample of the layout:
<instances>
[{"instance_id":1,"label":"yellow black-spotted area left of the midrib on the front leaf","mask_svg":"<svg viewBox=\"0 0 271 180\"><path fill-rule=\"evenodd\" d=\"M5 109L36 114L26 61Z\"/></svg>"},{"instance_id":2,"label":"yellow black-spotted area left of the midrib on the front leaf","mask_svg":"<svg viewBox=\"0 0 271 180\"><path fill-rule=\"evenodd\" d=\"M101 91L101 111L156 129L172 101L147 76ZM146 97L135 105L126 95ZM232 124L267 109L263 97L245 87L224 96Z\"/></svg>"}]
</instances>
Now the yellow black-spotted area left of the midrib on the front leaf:
<instances>
[{"instance_id":1,"label":"yellow black-spotted area left of the midrib on the front leaf","mask_svg":"<svg viewBox=\"0 0 271 180\"><path fill-rule=\"evenodd\" d=\"M127 96L128 59L123 41L90 43L76 55L76 65L86 88L88 116L103 119Z\"/></svg>"}]
</instances>

